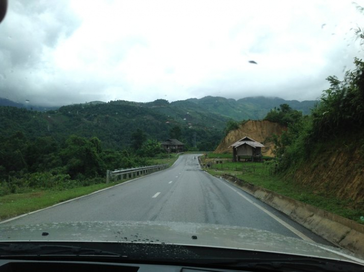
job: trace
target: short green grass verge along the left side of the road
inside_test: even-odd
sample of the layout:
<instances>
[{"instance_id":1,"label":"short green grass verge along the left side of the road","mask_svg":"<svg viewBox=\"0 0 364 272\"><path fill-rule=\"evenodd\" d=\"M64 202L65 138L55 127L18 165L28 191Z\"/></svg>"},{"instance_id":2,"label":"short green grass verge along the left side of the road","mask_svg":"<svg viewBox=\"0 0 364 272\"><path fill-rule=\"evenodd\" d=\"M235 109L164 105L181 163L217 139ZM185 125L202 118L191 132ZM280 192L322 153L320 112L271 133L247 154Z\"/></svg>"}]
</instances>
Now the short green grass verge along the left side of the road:
<instances>
[{"instance_id":1,"label":"short green grass verge along the left side of the road","mask_svg":"<svg viewBox=\"0 0 364 272\"><path fill-rule=\"evenodd\" d=\"M162 155L163 156L163 155ZM170 154L169 166L177 161L179 155ZM151 164L165 164L168 163L168 156L165 158L151 158ZM106 184L98 183L89 186L78 186L70 189L24 189L23 193L9 194L0 196L0 220L13 218L22 214L30 213L39 209L52 206L57 203L64 202L69 199L78 198L84 195L91 194L104 188L114 186L116 184L128 181L111 181Z\"/></svg>"}]
</instances>

